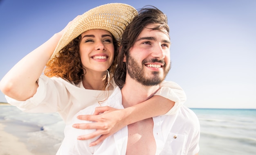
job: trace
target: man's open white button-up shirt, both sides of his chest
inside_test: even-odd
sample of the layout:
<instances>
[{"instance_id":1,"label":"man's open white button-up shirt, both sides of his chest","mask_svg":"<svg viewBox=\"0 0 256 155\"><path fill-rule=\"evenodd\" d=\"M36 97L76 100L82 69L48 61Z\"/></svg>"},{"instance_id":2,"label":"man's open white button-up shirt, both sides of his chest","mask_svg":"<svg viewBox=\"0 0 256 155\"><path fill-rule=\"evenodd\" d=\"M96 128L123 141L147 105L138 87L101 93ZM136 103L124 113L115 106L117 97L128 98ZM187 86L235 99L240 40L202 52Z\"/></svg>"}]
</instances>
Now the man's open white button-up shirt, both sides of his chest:
<instances>
[{"instance_id":1,"label":"man's open white button-up shirt, both sides of his chest","mask_svg":"<svg viewBox=\"0 0 256 155\"><path fill-rule=\"evenodd\" d=\"M124 109L122 95L119 87L116 87L112 95L101 103L101 106L110 106ZM157 103L156 103L157 104ZM91 140L77 140L79 135L85 135L95 130L75 129L72 124L90 123L91 121L79 120L78 115L93 114L95 107L91 105L79 111L70 124L65 127L65 138L56 155L125 155L128 140L127 126L117 133L110 135L97 146L89 144L99 137ZM199 152L200 125L195 113L184 105L180 106L177 113L153 118L153 134L157 146L156 155L195 155Z\"/></svg>"}]
</instances>

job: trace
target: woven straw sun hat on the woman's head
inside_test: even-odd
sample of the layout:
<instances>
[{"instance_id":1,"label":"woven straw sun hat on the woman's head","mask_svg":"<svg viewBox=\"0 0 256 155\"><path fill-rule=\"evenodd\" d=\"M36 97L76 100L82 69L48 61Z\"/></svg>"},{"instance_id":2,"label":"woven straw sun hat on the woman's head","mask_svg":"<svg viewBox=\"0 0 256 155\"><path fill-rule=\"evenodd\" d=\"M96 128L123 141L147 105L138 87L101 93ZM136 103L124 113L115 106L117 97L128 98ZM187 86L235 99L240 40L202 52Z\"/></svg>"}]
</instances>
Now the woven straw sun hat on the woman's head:
<instances>
[{"instance_id":1,"label":"woven straw sun hat on the woman's head","mask_svg":"<svg viewBox=\"0 0 256 155\"><path fill-rule=\"evenodd\" d=\"M58 55L58 52L74 38L88 30L103 29L112 33L117 41L121 41L124 29L137 14L134 7L122 3L104 4L90 9L72 22L63 33L50 59Z\"/></svg>"}]
</instances>

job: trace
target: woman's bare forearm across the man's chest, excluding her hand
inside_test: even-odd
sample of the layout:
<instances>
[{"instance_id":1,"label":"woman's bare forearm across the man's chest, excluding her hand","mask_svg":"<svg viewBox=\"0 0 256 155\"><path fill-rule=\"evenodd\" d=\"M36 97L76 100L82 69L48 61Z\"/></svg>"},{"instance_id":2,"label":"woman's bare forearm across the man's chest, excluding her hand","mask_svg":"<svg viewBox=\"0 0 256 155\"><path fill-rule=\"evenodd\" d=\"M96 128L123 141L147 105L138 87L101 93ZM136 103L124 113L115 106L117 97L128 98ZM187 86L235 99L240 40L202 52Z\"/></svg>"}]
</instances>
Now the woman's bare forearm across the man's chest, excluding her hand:
<instances>
[{"instance_id":1,"label":"woman's bare forearm across the man's chest, excluding her hand","mask_svg":"<svg viewBox=\"0 0 256 155\"><path fill-rule=\"evenodd\" d=\"M146 118L164 115L174 106L174 104L175 102L162 96L153 96L143 103L122 109L124 112L124 124L128 125Z\"/></svg>"}]
</instances>

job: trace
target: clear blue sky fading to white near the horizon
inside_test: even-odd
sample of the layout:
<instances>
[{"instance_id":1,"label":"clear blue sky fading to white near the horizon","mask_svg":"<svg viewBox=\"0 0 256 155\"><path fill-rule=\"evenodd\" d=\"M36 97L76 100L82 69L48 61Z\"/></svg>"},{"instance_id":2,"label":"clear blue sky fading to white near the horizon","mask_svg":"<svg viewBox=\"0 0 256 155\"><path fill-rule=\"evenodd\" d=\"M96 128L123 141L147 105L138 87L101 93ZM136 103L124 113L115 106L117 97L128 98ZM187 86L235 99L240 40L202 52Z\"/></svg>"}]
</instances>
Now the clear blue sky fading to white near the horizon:
<instances>
[{"instance_id":1,"label":"clear blue sky fading to white near the horizon","mask_svg":"<svg viewBox=\"0 0 256 155\"><path fill-rule=\"evenodd\" d=\"M172 42L166 80L184 89L187 107L256 109L255 0L0 0L0 79L76 15L110 2L166 13Z\"/></svg>"}]
</instances>

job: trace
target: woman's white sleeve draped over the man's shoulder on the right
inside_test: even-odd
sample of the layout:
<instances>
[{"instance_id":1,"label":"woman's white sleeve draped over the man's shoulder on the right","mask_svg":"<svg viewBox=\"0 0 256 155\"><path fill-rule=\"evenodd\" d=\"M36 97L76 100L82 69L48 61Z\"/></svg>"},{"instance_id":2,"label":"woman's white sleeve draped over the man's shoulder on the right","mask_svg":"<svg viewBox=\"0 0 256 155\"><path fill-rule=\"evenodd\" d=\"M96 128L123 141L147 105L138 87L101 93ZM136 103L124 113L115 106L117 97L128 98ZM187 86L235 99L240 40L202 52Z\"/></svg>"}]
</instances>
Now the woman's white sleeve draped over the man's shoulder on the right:
<instances>
[{"instance_id":1,"label":"woman's white sleeve draped over the man's shoulder on the right","mask_svg":"<svg viewBox=\"0 0 256 155\"><path fill-rule=\"evenodd\" d=\"M185 92L180 85L173 81L163 81L160 85L160 89L155 95L162 96L175 102L174 106L165 115L176 114L180 106L186 101Z\"/></svg>"}]
</instances>

